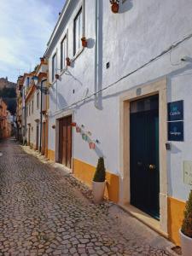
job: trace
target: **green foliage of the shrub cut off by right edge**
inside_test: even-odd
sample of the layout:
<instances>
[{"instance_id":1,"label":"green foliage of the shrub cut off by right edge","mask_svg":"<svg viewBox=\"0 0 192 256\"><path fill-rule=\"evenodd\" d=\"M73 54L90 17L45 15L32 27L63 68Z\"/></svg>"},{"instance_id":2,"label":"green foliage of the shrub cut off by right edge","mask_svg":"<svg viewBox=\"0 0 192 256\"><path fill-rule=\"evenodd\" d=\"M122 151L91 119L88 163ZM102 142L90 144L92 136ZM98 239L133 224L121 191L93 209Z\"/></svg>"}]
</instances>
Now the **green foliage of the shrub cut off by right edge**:
<instances>
[{"instance_id":1,"label":"green foliage of the shrub cut off by right edge","mask_svg":"<svg viewBox=\"0 0 192 256\"><path fill-rule=\"evenodd\" d=\"M189 200L186 203L181 230L185 236L192 238L192 190L189 194Z\"/></svg>"}]
</instances>

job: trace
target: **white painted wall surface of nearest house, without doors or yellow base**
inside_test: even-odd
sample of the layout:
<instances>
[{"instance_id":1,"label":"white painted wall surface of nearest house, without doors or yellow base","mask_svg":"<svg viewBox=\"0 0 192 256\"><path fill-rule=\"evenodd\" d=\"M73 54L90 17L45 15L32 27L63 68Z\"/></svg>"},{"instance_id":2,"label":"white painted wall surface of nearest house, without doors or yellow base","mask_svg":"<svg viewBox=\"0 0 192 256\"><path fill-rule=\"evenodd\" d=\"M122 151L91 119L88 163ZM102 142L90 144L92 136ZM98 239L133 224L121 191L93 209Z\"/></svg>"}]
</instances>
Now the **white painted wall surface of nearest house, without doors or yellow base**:
<instances>
[{"instance_id":1,"label":"white painted wall surface of nearest house, without doors or yellow base","mask_svg":"<svg viewBox=\"0 0 192 256\"><path fill-rule=\"evenodd\" d=\"M84 35L90 38L90 47L74 60L73 67L68 67L73 75L61 75L50 90L49 105L49 149L55 150L55 130L51 128L58 118L61 108L71 105L84 95L94 91L95 82L95 1L85 1ZM107 87L128 73L160 55L172 44L192 33L192 2L190 0L135 0L125 1L120 6L119 14L111 12L109 1L102 4L100 19L99 70L101 84ZM69 57L73 58L73 18L79 11L80 4L73 8L73 15L58 40L58 44L49 54L49 75L51 75L51 57L57 52L60 68L60 44L68 32ZM55 39L56 40L56 39ZM102 103L95 107L94 98L73 108L74 120L91 131L93 139L101 143L99 150L91 151L79 134L74 132L73 157L96 165L98 155L104 154L106 166L110 172L119 173L119 96L125 90L152 80L167 76L167 102L184 101L184 142L172 143L172 151L167 152L169 195L186 200L189 189L183 184L183 160L192 160L191 109L192 109L192 39L179 44L176 49L162 55L148 66L121 79L117 84L102 92ZM189 61L180 61L188 56ZM190 59L191 58L191 59ZM106 63L110 67L106 68ZM100 63L100 64L101 64ZM73 94L73 90L75 93Z\"/></svg>"}]
</instances>

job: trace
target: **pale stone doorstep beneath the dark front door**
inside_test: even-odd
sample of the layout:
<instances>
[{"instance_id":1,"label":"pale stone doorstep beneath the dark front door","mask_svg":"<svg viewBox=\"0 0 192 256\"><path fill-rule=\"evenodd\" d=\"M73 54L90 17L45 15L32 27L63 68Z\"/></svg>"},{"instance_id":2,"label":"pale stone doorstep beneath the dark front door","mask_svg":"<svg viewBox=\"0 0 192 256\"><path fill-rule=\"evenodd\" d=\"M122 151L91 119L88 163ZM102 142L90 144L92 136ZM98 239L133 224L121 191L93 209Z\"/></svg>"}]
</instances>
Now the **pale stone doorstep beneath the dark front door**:
<instances>
[{"instance_id":1,"label":"pale stone doorstep beneath the dark front door","mask_svg":"<svg viewBox=\"0 0 192 256\"><path fill-rule=\"evenodd\" d=\"M152 218L147 213L142 212L141 210L137 209L137 207L133 207L130 204L119 204L119 207L124 209L126 212L129 212L133 217L140 220L143 224L146 224L152 230L159 233L160 236L168 238L168 234L160 229L160 221L156 220L155 218Z\"/></svg>"}]
</instances>

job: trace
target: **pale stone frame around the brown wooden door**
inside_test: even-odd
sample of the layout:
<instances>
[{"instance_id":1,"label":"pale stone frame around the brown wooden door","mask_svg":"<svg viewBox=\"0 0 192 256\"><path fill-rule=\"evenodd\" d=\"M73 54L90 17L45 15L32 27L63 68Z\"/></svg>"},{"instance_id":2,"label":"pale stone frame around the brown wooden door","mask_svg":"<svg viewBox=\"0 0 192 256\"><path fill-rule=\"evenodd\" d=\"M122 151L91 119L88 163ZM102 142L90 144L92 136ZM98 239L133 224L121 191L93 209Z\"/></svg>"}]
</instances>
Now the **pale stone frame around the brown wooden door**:
<instances>
[{"instance_id":1,"label":"pale stone frame around the brown wooden door","mask_svg":"<svg viewBox=\"0 0 192 256\"><path fill-rule=\"evenodd\" d=\"M67 111L66 113L60 113L57 115L56 119L55 119L55 162L59 163L59 122L60 122L60 119L63 119L63 118L66 118L67 116L72 116L72 121L74 120L74 112L73 110L69 110ZM70 171L73 172L73 143L74 143L74 140L73 140L73 137L74 137L74 129L72 129L72 167L71 169L68 169L66 166L66 168Z\"/></svg>"}]
</instances>

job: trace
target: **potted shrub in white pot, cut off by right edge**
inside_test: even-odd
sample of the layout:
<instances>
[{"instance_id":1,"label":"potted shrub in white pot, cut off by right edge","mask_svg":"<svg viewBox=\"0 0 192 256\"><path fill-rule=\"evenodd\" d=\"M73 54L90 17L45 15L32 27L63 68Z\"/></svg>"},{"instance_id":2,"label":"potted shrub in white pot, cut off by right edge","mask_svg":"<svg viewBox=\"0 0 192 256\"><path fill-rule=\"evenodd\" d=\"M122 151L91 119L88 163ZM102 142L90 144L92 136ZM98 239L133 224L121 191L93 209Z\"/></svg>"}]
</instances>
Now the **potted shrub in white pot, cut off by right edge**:
<instances>
[{"instance_id":1,"label":"potted shrub in white pot, cut off by right edge","mask_svg":"<svg viewBox=\"0 0 192 256\"><path fill-rule=\"evenodd\" d=\"M183 225L179 230L182 255L191 256L192 254L192 190L189 194L189 200L186 203Z\"/></svg>"}]
</instances>

